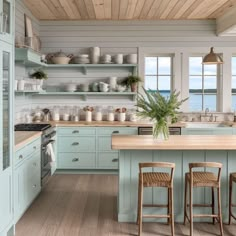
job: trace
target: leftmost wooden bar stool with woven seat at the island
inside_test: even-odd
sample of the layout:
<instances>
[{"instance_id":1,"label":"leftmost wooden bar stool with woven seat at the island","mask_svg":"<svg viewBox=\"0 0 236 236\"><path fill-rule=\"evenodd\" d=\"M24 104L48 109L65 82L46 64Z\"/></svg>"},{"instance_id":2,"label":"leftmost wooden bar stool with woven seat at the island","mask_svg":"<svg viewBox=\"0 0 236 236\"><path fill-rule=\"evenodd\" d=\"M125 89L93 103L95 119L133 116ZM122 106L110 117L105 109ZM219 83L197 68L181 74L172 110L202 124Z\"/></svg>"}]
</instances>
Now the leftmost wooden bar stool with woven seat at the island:
<instances>
[{"instance_id":1,"label":"leftmost wooden bar stool with woven seat at the island","mask_svg":"<svg viewBox=\"0 0 236 236\"><path fill-rule=\"evenodd\" d=\"M143 168L168 168L169 172L143 172ZM168 162L149 162L139 163L139 183L138 183L138 214L137 224L139 225L138 235L142 233L142 218L167 218L171 223L171 234L174 232L174 203L173 203L173 176L175 164ZM143 188L144 187L164 187L168 189L167 204L143 204ZM143 207L165 207L166 215L144 215Z\"/></svg>"}]
</instances>

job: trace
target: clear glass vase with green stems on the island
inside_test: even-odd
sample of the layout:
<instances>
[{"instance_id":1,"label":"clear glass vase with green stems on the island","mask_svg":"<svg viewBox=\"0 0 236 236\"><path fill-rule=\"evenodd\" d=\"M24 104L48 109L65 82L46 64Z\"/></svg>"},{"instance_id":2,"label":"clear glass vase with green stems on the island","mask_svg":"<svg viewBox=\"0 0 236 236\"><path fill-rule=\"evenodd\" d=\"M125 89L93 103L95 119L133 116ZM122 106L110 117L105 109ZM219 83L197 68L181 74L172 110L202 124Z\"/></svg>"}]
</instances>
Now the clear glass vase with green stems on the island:
<instances>
[{"instance_id":1,"label":"clear glass vase with green stems on the island","mask_svg":"<svg viewBox=\"0 0 236 236\"><path fill-rule=\"evenodd\" d=\"M157 140L167 140L169 138L169 128L166 118L153 121L152 135Z\"/></svg>"}]
</instances>

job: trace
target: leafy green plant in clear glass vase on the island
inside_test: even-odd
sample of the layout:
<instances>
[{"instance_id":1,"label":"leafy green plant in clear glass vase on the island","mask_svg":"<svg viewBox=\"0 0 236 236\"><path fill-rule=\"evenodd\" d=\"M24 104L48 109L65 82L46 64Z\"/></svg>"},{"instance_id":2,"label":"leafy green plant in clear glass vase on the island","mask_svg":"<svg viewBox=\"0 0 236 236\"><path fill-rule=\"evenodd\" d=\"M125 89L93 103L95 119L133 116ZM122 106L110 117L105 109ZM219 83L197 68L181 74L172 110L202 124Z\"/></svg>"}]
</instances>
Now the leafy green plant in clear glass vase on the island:
<instances>
[{"instance_id":1,"label":"leafy green plant in clear glass vase on the island","mask_svg":"<svg viewBox=\"0 0 236 236\"><path fill-rule=\"evenodd\" d=\"M138 93L137 115L141 118L150 118L153 122L153 137L160 139L169 138L168 121L176 122L180 105L188 98L178 100L180 92L170 92L164 97L160 92L144 89L144 94Z\"/></svg>"}]
</instances>

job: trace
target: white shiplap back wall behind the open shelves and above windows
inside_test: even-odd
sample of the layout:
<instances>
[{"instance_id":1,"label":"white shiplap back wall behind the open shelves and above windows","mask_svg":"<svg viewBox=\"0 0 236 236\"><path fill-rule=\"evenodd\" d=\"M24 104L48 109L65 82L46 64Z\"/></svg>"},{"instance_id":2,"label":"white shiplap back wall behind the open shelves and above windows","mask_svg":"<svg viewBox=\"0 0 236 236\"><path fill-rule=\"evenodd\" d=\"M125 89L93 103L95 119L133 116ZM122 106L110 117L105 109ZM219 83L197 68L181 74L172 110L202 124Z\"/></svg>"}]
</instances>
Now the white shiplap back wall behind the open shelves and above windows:
<instances>
[{"instance_id":1,"label":"white shiplap back wall behind the open shelves and above windows","mask_svg":"<svg viewBox=\"0 0 236 236\"><path fill-rule=\"evenodd\" d=\"M18 4L22 8L23 5ZM20 7L19 7L20 10ZM18 9L16 9L18 12ZM20 10L22 12L22 10ZM17 15L21 15L19 12ZM20 21L20 17L18 20ZM21 23L18 23L19 28ZM34 23L36 31L39 31L42 41L43 53L54 53L59 50L70 54L78 55L88 53L89 47L99 46L101 54L109 53L139 53L145 55L146 52L162 53L177 52L177 59L182 60L181 55L190 55L192 51L207 52L208 48L214 46L216 49L236 46L236 37L217 37L215 21L41 21ZM194 50L192 50L194 49ZM222 51L220 51L222 52ZM140 58L139 58L140 59ZM139 72L143 74L143 61L139 61ZM183 89L184 65L177 62L179 68L176 70L175 77L179 78L176 87ZM109 76L126 76L125 71L96 71L91 70L87 75L82 74L77 69L51 69L48 70L49 79L46 86L59 86L67 82L86 83L94 80L106 81ZM228 72L227 72L228 73ZM228 73L228 77L230 77ZM229 87L229 86L228 86ZM185 91L186 92L186 91ZM183 94L185 96L185 92ZM97 105L103 104L115 106L126 105L133 107L134 103L127 98L118 99L96 99L82 101L78 97L39 97L31 99L34 106L58 105Z\"/></svg>"}]
</instances>

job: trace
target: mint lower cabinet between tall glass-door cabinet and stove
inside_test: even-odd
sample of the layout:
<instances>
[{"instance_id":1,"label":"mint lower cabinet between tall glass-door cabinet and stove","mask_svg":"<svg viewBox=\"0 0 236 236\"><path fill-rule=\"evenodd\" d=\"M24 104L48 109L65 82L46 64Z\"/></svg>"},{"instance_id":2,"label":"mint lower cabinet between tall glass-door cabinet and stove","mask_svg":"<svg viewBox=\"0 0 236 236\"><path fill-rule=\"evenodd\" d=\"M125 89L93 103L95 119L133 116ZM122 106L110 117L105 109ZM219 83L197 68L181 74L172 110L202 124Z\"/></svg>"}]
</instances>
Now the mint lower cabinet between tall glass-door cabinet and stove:
<instances>
[{"instance_id":1,"label":"mint lower cabinet between tall glass-door cabinet and stove","mask_svg":"<svg viewBox=\"0 0 236 236\"><path fill-rule=\"evenodd\" d=\"M15 153L14 222L23 215L41 190L41 138L26 144Z\"/></svg>"}]
</instances>

